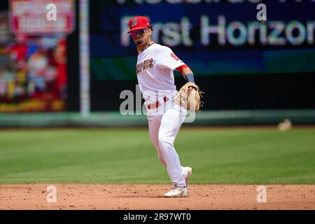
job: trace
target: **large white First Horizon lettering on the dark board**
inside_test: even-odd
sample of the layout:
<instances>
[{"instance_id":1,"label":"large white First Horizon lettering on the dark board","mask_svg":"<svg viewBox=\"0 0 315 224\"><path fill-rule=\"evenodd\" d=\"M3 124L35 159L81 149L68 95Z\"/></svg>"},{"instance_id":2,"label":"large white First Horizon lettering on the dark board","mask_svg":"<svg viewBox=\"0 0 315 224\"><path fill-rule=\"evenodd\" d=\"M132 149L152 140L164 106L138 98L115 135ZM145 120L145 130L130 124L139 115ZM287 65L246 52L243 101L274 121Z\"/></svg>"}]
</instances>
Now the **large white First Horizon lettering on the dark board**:
<instances>
[{"instance_id":1,"label":"large white First Horizon lettering on the dark board","mask_svg":"<svg viewBox=\"0 0 315 224\"><path fill-rule=\"evenodd\" d=\"M121 19L120 41L123 46L130 45L127 21L130 17ZM197 26L200 36L192 36L193 25L188 17L180 22L153 23L153 41L169 46L192 46L200 38L200 43L208 45L314 45L315 21L302 22L298 20L259 22L257 20L227 22L225 15L218 15L215 20L209 15L201 15L200 26Z\"/></svg>"}]
</instances>

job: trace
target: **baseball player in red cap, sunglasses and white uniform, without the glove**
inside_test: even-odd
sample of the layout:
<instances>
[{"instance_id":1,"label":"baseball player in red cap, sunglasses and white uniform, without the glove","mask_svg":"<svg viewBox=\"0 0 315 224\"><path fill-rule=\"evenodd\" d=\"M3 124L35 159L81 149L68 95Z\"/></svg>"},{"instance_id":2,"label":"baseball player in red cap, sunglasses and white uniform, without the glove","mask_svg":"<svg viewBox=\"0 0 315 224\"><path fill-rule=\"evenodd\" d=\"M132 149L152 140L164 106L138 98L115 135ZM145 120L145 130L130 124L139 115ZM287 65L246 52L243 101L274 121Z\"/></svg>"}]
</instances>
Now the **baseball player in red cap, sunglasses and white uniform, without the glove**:
<instances>
[{"instance_id":1,"label":"baseball player in red cap, sunglasses and white uniform, without the glove","mask_svg":"<svg viewBox=\"0 0 315 224\"><path fill-rule=\"evenodd\" d=\"M188 179L193 172L190 167L181 167L174 140L186 118L186 109L174 104L176 86L174 69L183 74L188 82L195 83L193 71L176 57L167 46L153 43L153 28L148 18L137 16L129 21L127 31L137 45L137 79L145 99L148 128L160 162L167 167L174 188L165 197L187 197Z\"/></svg>"}]
</instances>

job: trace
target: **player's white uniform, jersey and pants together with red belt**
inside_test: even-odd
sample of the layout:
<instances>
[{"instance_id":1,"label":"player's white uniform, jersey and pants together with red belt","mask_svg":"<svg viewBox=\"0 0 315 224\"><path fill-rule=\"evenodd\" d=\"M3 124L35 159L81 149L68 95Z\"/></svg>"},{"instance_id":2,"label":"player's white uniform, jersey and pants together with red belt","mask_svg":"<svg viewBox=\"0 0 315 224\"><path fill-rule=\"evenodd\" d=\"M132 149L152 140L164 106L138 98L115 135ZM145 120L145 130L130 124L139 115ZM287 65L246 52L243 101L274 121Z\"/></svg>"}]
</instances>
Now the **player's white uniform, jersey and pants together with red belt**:
<instances>
[{"instance_id":1,"label":"player's white uniform, jersey and pants together with red belt","mask_svg":"<svg viewBox=\"0 0 315 224\"><path fill-rule=\"evenodd\" d=\"M151 42L139 52L137 79L148 112L151 141L174 185L185 187L186 169L181 167L174 140L186 118L186 109L175 104L174 69L184 63L166 46Z\"/></svg>"}]
</instances>

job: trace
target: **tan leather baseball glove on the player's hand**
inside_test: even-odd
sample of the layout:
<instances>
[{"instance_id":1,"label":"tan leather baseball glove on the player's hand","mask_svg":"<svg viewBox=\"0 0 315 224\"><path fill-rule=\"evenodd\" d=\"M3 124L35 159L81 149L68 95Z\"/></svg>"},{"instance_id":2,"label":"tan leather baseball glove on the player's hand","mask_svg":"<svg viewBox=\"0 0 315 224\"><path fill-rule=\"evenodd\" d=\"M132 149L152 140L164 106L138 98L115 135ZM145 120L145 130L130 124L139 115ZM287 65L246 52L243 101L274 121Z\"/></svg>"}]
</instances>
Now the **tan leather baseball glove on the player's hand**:
<instances>
[{"instance_id":1,"label":"tan leather baseball glove on the player's hand","mask_svg":"<svg viewBox=\"0 0 315 224\"><path fill-rule=\"evenodd\" d=\"M200 100L203 93L200 91L198 85L188 82L181 87L179 93L174 98L174 102L186 110L200 112L200 108L204 105L204 102Z\"/></svg>"}]
</instances>

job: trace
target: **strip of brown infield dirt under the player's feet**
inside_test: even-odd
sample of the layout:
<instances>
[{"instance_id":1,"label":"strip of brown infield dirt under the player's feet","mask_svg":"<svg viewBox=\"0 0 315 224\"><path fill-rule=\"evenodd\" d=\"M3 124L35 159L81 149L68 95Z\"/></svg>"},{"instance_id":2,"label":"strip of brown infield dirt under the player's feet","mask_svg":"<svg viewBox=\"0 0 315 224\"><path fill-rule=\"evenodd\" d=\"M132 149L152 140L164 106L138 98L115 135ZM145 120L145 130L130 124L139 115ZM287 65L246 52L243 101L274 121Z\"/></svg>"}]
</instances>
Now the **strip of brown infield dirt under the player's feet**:
<instances>
[{"instance_id":1,"label":"strip of brown infield dirt under the player's feet","mask_svg":"<svg viewBox=\"0 0 315 224\"><path fill-rule=\"evenodd\" d=\"M186 198L165 198L169 185L0 185L0 209L315 209L315 185L192 185Z\"/></svg>"}]
</instances>

